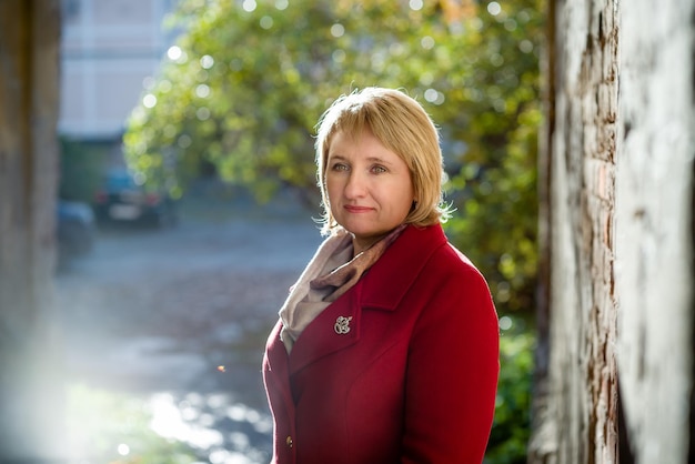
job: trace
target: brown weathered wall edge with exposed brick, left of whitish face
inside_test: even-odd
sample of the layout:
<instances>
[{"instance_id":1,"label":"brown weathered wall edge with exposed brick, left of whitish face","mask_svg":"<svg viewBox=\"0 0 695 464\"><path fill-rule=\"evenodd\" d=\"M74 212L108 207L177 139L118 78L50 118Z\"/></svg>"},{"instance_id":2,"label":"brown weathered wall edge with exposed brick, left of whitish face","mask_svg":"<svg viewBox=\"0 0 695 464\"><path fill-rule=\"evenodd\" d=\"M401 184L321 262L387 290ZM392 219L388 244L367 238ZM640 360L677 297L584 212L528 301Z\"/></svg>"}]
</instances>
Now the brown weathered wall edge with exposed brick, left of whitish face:
<instances>
[{"instance_id":1,"label":"brown weathered wall edge with exposed brick, left of whitish face","mask_svg":"<svg viewBox=\"0 0 695 464\"><path fill-rule=\"evenodd\" d=\"M560 463L608 463L617 446L611 285L617 11L612 2L594 3L555 3L545 424L553 445L545 453Z\"/></svg>"}]
</instances>

